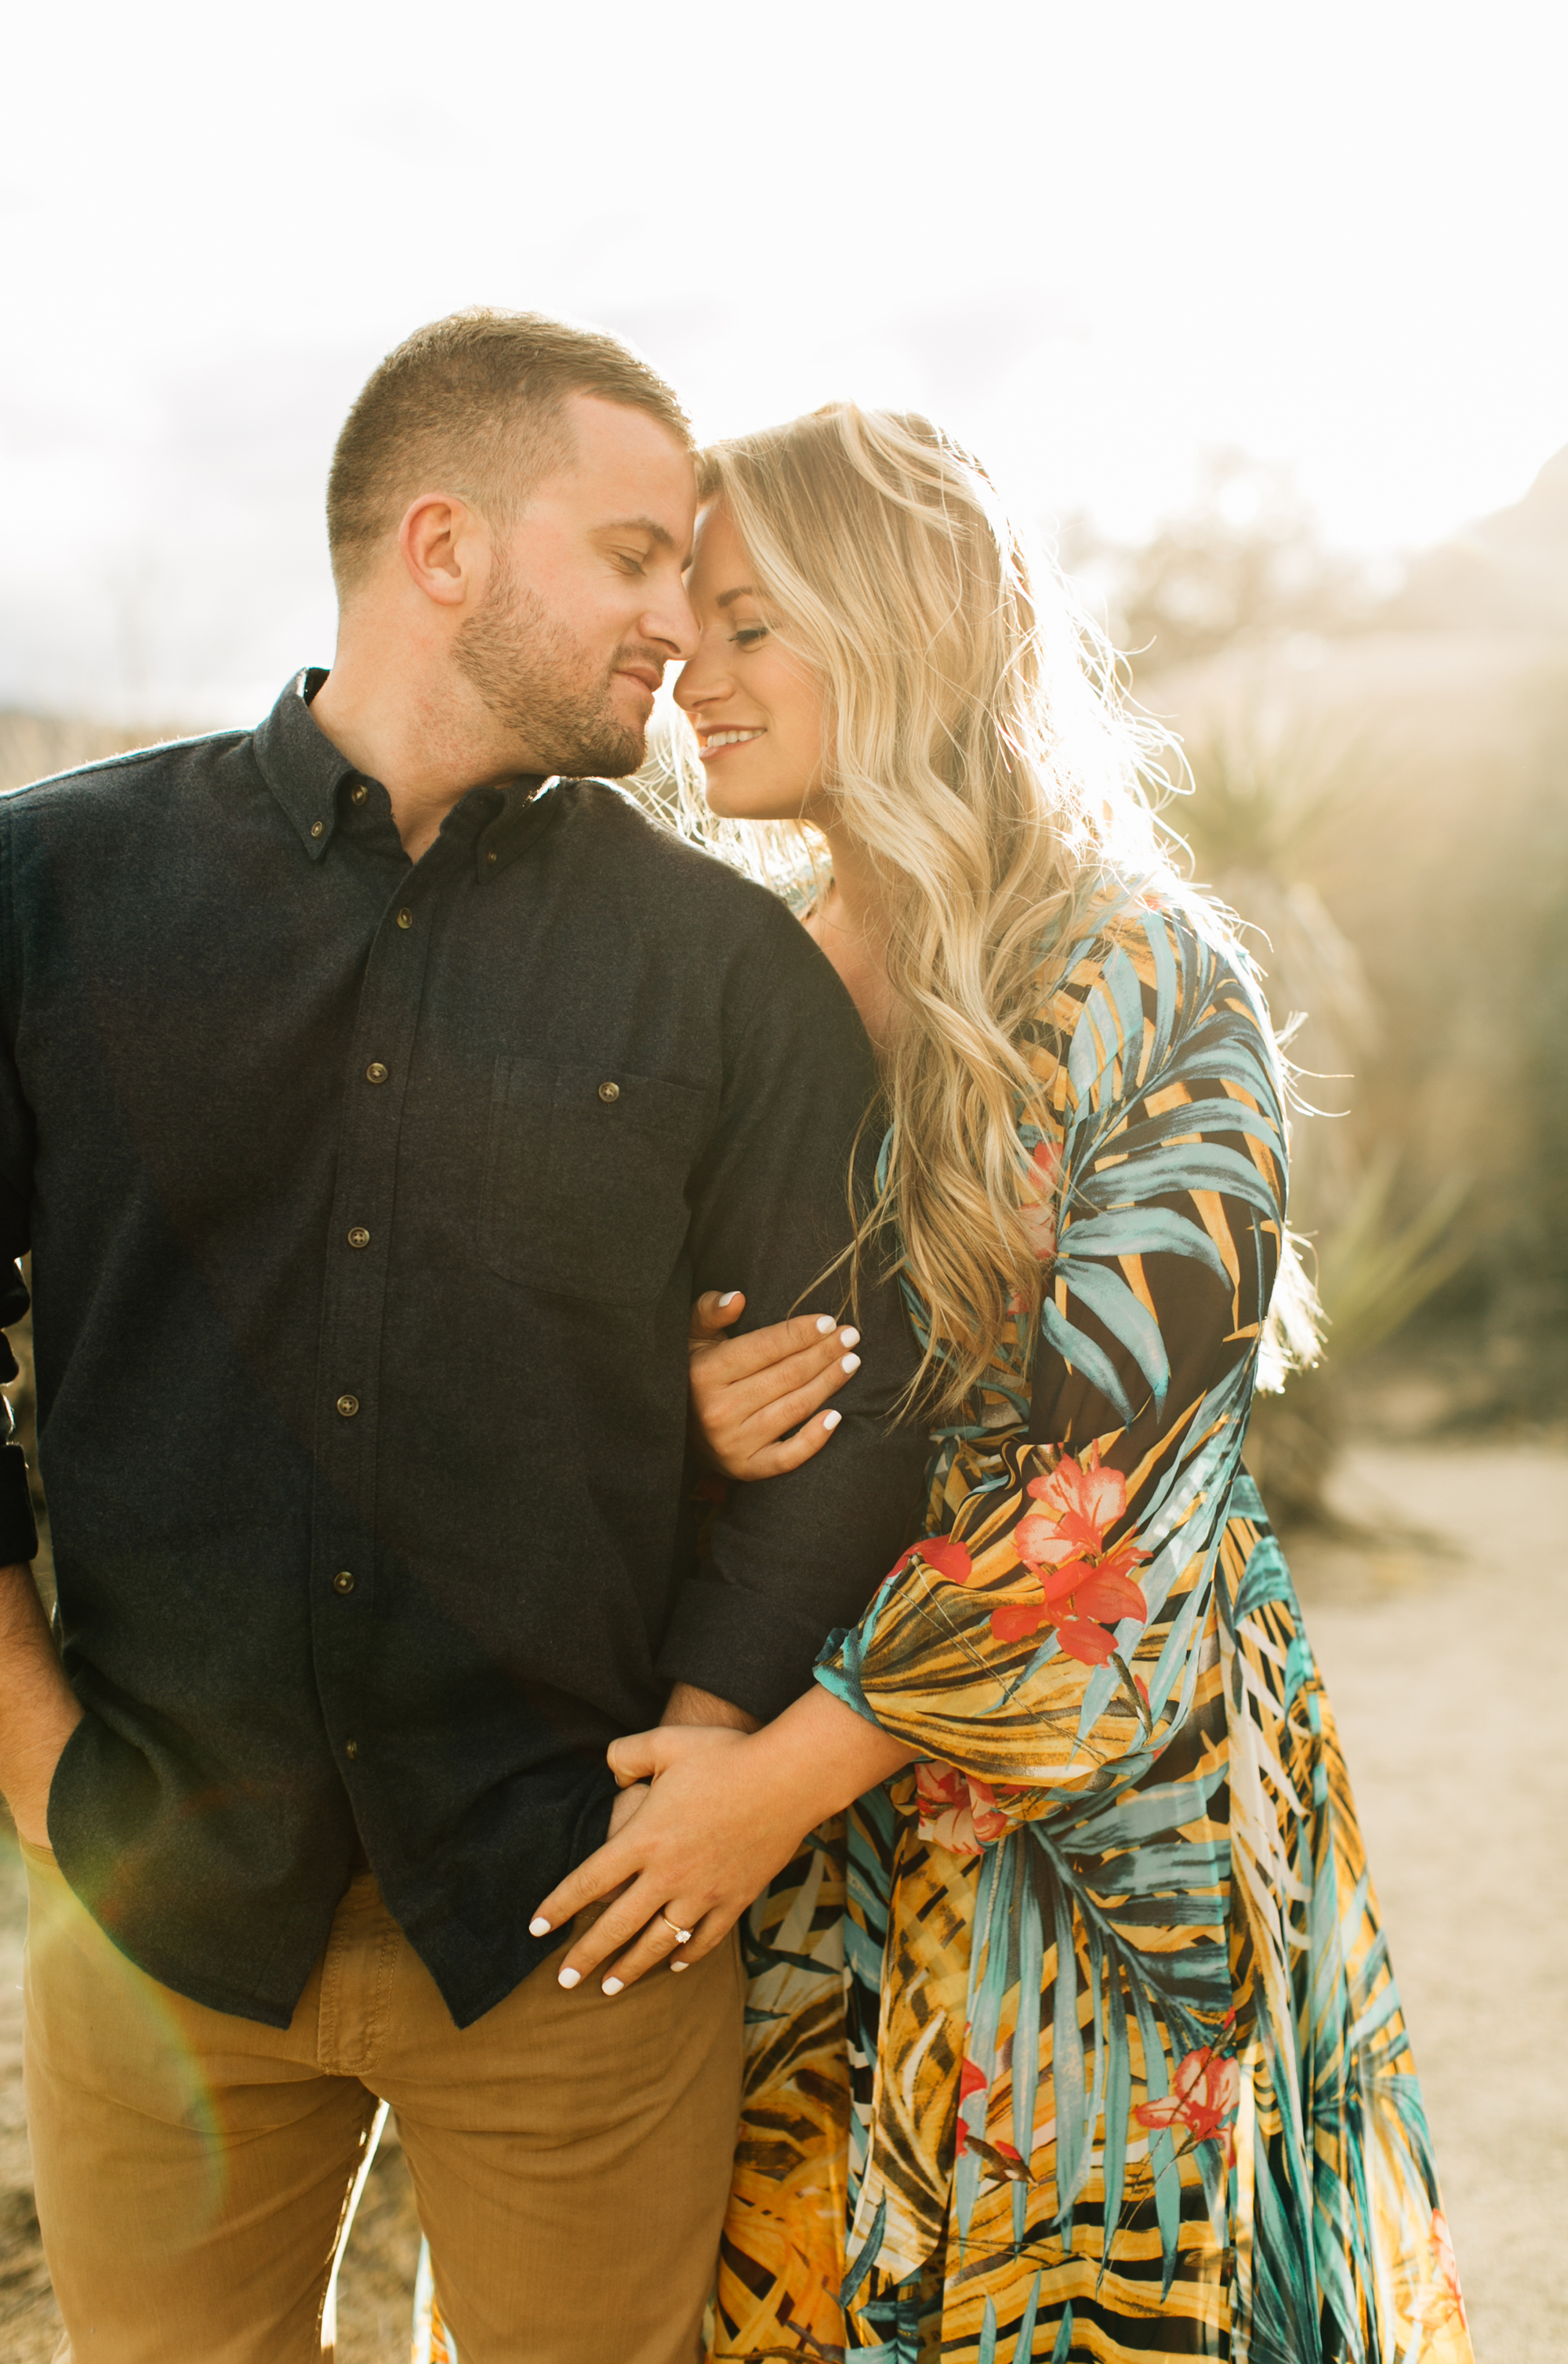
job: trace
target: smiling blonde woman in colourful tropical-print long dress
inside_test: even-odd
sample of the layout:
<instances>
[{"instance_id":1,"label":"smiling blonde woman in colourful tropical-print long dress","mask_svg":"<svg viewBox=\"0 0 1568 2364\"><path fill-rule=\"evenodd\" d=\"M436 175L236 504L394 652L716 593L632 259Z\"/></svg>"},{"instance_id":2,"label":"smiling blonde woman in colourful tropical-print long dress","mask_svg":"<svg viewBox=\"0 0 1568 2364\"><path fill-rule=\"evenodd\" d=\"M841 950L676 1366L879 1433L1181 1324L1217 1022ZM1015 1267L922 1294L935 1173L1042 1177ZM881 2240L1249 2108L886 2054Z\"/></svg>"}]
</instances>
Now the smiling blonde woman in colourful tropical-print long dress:
<instances>
[{"instance_id":1,"label":"smiling blonde woman in colourful tropical-print long dress","mask_svg":"<svg viewBox=\"0 0 1568 2364\"><path fill-rule=\"evenodd\" d=\"M901 1265L934 1442L922 1541L814 1693L617 1742L648 1799L539 1912L627 1882L563 1972L615 1993L759 1898L712 2352L1469 2359L1242 1468L1253 1385L1310 1350L1256 981L1060 586L925 421L721 444L691 591L712 813L830 858L806 924L887 1087L858 1255ZM731 1470L830 1449L830 1416L785 1440L823 1359L695 1357Z\"/></svg>"}]
</instances>

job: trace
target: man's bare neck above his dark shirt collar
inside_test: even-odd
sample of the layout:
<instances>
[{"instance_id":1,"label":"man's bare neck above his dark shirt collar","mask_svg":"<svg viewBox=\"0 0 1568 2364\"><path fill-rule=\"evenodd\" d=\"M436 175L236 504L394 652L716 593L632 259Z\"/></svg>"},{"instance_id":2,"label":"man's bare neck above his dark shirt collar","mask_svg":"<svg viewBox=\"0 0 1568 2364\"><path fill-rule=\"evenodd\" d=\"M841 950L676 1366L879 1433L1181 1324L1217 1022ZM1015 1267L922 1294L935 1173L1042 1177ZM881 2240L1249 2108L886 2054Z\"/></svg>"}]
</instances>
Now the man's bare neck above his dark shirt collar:
<instances>
[{"instance_id":1,"label":"man's bare neck above his dark shirt collar","mask_svg":"<svg viewBox=\"0 0 1568 2364\"><path fill-rule=\"evenodd\" d=\"M317 728L355 771L381 780L409 860L435 844L440 825L471 787L497 787L518 775L494 745L485 707L475 712L440 695L414 660L404 674L338 650L338 662L310 702Z\"/></svg>"}]
</instances>

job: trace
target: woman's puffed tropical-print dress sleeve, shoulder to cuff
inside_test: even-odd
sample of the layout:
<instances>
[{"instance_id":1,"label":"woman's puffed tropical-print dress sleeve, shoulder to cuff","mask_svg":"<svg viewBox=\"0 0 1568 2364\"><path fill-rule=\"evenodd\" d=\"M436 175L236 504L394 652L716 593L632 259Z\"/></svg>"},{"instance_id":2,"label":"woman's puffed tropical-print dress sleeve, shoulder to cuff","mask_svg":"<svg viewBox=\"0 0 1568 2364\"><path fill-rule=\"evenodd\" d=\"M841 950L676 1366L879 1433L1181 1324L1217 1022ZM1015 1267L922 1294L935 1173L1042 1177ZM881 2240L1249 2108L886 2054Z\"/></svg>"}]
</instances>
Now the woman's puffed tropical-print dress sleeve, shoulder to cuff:
<instances>
[{"instance_id":1,"label":"woman's puffed tropical-print dress sleeve, shoulder to cuff","mask_svg":"<svg viewBox=\"0 0 1568 2364\"><path fill-rule=\"evenodd\" d=\"M1185 1721L1284 1225L1256 986L1183 920L1078 960L1043 1033L1062 1199L1029 1437L816 1669L932 1759L927 1830L970 1849Z\"/></svg>"}]
</instances>

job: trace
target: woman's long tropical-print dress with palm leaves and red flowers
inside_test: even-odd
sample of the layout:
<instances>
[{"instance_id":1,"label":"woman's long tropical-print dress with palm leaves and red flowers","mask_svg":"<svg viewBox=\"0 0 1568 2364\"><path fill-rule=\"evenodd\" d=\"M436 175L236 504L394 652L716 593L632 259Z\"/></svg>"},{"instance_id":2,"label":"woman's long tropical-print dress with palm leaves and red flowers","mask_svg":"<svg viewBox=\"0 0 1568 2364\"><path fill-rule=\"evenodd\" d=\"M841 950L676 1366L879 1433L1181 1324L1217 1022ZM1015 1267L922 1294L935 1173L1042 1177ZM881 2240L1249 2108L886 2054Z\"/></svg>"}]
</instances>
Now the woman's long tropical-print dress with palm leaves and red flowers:
<instances>
[{"instance_id":1,"label":"woman's long tropical-print dress with palm leaves and red flowers","mask_svg":"<svg viewBox=\"0 0 1568 2364\"><path fill-rule=\"evenodd\" d=\"M922 1761L747 1922L714 2364L1469 2364L1334 1716L1242 1468L1256 983L1140 905L1043 998L1038 1340L818 1681ZM1029 1369L1031 1362L1031 1369Z\"/></svg>"}]
</instances>

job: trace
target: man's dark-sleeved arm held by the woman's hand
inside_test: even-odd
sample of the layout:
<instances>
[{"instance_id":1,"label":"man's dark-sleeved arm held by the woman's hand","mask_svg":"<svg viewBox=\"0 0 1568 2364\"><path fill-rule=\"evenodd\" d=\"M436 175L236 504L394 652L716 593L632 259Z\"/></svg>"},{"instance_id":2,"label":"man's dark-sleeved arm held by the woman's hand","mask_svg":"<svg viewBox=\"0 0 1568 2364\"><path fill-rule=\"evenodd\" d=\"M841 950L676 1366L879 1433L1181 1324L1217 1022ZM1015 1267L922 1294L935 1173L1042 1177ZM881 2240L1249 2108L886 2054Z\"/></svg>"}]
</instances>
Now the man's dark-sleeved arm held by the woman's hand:
<instances>
[{"instance_id":1,"label":"man's dark-sleeved arm held by the woman's hand","mask_svg":"<svg viewBox=\"0 0 1568 2364\"><path fill-rule=\"evenodd\" d=\"M726 1007L724 1104L693 1184L693 1286L745 1288L745 1329L806 1307L849 1319L849 1161L861 1137L863 1168L875 1163L880 1128L863 1128L875 1092L849 995L771 908ZM667 1681L733 1702L752 1726L804 1693L828 1634L856 1622L915 1520L927 1442L896 1418L918 1359L896 1284L863 1272L854 1319L861 1369L837 1397L832 1447L728 1489L660 1652Z\"/></svg>"}]
</instances>

